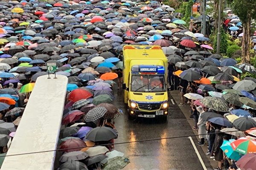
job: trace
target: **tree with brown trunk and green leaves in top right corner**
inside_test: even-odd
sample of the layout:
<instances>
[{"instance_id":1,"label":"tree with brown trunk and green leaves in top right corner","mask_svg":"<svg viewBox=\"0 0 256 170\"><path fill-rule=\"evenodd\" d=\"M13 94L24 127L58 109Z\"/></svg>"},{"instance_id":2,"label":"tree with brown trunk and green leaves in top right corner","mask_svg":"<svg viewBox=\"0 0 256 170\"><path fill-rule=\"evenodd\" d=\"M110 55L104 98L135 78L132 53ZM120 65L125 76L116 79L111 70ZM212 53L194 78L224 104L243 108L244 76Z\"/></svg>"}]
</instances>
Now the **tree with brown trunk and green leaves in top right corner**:
<instances>
[{"instance_id":1,"label":"tree with brown trunk and green leaves in top right corner","mask_svg":"<svg viewBox=\"0 0 256 170\"><path fill-rule=\"evenodd\" d=\"M228 0L243 24L242 56L241 62L250 63L250 23L256 18L256 0Z\"/></svg>"}]
</instances>

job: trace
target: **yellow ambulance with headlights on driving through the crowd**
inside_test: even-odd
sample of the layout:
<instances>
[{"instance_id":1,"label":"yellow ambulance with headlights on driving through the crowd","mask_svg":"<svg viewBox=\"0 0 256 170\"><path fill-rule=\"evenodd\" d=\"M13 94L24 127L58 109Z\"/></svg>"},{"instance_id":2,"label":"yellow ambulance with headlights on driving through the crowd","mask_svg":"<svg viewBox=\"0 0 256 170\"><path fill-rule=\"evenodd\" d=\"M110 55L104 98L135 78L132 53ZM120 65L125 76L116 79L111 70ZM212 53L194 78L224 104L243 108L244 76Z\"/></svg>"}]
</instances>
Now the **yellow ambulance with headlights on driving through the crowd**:
<instances>
[{"instance_id":1,"label":"yellow ambulance with headlights on driving through the crowd","mask_svg":"<svg viewBox=\"0 0 256 170\"><path fill-rule=\"evenodd\" d=\"M123 47L124 102L129 119L163 117L167 119L168 59L160 46L125 45Z\"/></svg>"}]
</instances>

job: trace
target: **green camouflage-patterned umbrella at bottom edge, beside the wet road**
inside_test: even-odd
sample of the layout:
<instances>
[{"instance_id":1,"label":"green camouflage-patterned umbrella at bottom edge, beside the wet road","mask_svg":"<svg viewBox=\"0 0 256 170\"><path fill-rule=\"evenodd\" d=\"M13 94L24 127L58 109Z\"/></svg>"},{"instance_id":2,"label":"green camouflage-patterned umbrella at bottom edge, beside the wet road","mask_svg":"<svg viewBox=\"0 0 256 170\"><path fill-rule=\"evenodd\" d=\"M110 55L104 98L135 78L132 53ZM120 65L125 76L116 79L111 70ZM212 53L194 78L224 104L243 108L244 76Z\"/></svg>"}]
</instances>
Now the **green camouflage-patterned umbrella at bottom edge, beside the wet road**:
<instances>
[{"instance_id":1,"label":"green camouflage-patterned umbrella at bottom edge, beside the wet road","mask_svg":"<svg viewBox=\"0 0 256 170\"><path fill-rule=\"evenodd\" d=\"M111 159L108 159L108 162L104 164L104 170L121 170L126 165L130 163L129 157L117 156Z\"/></svg>"}]
</instances>

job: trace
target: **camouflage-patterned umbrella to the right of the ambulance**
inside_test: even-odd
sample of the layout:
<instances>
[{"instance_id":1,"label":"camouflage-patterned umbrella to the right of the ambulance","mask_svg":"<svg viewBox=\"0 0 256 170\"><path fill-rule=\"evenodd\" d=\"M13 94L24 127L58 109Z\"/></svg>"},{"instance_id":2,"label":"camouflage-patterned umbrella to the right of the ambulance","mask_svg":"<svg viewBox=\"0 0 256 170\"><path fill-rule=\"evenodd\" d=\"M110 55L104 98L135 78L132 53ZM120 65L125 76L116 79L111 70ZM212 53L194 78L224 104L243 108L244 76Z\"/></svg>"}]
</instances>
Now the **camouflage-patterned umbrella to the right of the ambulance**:
<instances>
[{"instance_id":1,"label":"camouflage-patterned umbrella to the right of the ambulance","mask_svg":"<svg viewBox=\"0 0 256 170\"><path fill-rule=\"evenodd\" d=\"M227 104L220 98L207 96L204 97L204 99L201 99L201 103L207 108L211 108L212 110L219 112L228 112Z\"/></svg>"}]
</instances>

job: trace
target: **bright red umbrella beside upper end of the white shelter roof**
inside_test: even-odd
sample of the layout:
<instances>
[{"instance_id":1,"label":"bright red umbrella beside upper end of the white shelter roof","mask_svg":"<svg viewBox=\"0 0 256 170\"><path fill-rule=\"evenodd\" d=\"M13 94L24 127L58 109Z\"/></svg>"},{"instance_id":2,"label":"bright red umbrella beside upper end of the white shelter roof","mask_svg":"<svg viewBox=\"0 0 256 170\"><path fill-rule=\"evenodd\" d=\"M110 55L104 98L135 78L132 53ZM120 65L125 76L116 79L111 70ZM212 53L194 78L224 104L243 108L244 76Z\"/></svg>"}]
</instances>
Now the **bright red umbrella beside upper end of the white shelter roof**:
<instances>
[{"instance_id":1,"label":"bright red umbrella beside upper end of the white shelter roof","mask_svg":"<svg viewBox=\"0 0 256 170\"><path fill-rule=\"evenodd\" d=\"M76 102L76 101L79 101L81 99L88 99L92 96L93 95L89 91L77 88L77 89L70 92L70 95L69 95L68 99L72 102Z\"/></svg>"}]
</instances>

